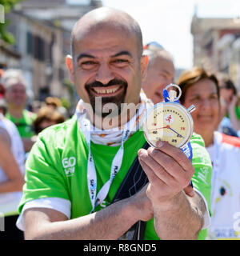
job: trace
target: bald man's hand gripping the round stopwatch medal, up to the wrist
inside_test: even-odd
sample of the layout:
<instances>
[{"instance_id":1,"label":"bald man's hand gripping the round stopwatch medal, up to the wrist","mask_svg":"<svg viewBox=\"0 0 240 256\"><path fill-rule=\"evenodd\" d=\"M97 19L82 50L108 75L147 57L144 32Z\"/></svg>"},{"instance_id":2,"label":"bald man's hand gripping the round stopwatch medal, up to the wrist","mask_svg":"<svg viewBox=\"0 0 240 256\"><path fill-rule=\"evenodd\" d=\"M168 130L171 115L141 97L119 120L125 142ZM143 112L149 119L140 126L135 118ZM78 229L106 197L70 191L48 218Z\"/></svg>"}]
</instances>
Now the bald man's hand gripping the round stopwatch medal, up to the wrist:
<instances>
[{"instance_id":1,"label":"bald man's hand gripping the round stopwatch medal, up to the wrist","mask_svg":"<svg viewBox=\"0 0 240 256\"><path fill-rule=\"evenodd\" d=\"M138 151L139 162L150 181L147 196L158 203L170 202L182 190L194 196L189 185L194 166L186 154L167 142L158 142L157 146L158 149L150 147Z\"/></svg>"}]
</instances>

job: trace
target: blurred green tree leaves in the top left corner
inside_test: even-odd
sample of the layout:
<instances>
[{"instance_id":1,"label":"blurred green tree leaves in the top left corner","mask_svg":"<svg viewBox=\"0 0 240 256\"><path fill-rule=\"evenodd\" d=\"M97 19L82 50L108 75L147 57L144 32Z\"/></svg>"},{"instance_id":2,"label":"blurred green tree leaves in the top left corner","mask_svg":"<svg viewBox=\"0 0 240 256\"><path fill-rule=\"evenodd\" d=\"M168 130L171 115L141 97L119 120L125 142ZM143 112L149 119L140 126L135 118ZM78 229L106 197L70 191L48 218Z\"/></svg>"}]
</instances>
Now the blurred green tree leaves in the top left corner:
<instances>
[{"instance_id":1,"label":"blurred green tree leaves in the top left corner","mask_svg":"<svg viewBox=\"0 0 240 256\"><path fill-rule=\"evenodd\" d=\"M14 5L22 0L0 0L0 5L4 8L4 15L13 9ZM10 23L9 20L5 20L4 23L0 23L0 38L7 43L14 44L14 36L6 30L6 26Z\"/></svg>"}]
</instances>

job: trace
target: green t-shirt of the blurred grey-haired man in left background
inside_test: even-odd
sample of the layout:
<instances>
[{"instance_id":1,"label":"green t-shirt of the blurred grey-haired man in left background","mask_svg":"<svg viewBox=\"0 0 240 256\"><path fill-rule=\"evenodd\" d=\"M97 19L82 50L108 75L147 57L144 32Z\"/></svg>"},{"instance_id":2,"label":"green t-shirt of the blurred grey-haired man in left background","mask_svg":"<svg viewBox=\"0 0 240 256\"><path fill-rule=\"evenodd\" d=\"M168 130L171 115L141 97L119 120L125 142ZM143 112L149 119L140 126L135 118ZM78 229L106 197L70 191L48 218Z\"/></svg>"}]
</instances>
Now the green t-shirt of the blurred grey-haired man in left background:
<instances>
[{"instance_id":1,"label":"green t-shirt of the blurred grey-haired man in left background","mask_svg":"<svg viewBox=\"0 0 240 256\"><path fill-rule=\"evenodd\" d=\"M31 138L34 136L32 123L36 117L37 114L28 110L22 111L22 118L14 118L10 113L6 113L6 118L8 118L11 122L14 122L14 124L17 126L21 138Z\"/></svg>"}]
</instances>

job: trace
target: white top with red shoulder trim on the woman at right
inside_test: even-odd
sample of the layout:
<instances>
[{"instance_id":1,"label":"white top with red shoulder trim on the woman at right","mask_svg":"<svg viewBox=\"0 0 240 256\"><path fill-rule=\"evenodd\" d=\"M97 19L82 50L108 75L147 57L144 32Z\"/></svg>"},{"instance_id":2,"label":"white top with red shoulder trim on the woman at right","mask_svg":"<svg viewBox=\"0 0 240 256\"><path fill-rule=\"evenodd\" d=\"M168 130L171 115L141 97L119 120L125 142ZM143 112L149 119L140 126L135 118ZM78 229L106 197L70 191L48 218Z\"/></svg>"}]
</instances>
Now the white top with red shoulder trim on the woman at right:
<instances>
[{"instance_id":1,"label":"white top with red shoulder trim on the woman at right","mask_svg":"<svg viewBox=\"0 0 240 256\"><path fill-rule=\"evenodd\" d=\"M208 239L240 238L240 138L214 133L207 148L213 162Z\"/></svg>"}]
</instances>

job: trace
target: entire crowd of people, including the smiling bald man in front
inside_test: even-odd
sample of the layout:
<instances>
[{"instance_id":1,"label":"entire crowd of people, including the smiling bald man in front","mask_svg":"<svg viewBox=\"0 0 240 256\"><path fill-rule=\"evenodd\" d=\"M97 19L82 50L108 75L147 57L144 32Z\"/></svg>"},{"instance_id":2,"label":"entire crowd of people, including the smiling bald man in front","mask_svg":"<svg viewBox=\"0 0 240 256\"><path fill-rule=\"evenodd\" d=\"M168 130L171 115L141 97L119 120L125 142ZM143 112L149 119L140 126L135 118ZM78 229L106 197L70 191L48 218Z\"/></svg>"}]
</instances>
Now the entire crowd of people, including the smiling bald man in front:
<instances>
[{"instance_id":1,"label":"entire crowd of people, including the smiling bald man in front","mask_svg":"<svg viewBox=\"0 0 240 256\"><path fill-rule=\"evenodd\" d=\"M239 239L230 78L194 66L175 80L173 56L158 42L142 46L134 18L106 7L76 22L66 65L80 97L71 118L56 97L27 110L21 70L0 73L0 238ZM141 129L171 83L182 106L195 106L190 160L169 143L150 146ZM106 115L108 104L118 110Z\"/></svg>"}]
</instances>

